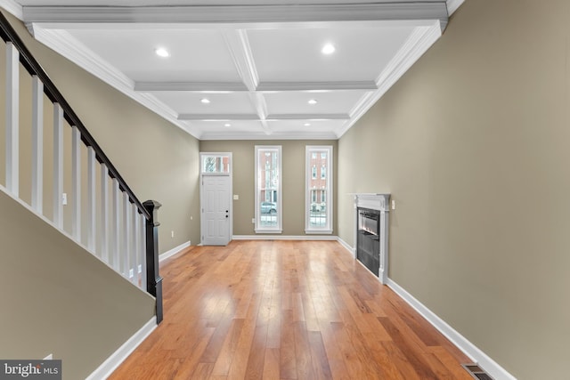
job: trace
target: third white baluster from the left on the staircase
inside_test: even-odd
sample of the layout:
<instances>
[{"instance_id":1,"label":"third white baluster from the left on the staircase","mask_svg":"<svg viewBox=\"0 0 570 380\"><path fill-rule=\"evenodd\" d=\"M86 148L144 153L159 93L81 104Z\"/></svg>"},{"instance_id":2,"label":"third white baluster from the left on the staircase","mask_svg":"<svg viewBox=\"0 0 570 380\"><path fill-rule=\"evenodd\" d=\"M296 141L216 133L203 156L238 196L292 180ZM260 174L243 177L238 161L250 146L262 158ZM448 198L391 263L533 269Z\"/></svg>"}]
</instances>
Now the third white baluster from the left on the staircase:
<instances>
[{"instance_id":1,"label":"third white baluster from the left on the staircase","mask_svg":"<svg viewBox=\"0 0 570 380\"><path fill-rule=\"evenodd\" d=\"M63 109L53 103L53 223L63 229Z\"/></svg>"}]
</instances>

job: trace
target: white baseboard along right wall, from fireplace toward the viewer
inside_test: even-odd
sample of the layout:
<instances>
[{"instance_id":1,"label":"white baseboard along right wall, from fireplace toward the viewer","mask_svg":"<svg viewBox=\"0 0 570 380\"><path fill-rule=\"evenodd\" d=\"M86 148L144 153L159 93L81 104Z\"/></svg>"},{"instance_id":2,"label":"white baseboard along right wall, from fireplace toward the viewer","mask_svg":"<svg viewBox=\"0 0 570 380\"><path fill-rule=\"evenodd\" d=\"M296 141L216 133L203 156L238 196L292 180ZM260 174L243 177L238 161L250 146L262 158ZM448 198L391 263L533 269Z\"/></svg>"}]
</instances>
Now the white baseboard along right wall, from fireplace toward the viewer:
<instances>
[{"instance_id":1,"label":"white baseboard along right wall, from fireplace toward the viewer","mask_svg":"<svg viewBox=\"0 0 570 380\"><path fill-rule=\"evenodd\" d=\"M453 327L449 326L444 319L439 318L436 313L430 311L423 303L420 303L413 295L403 289L403 287L396 284L393 279L387 280L387 286L394 290L395 294L399 295L415 311L418 311L422 317L427 319L433 327L436 327L452 344L455 344L455 346L471 360L477 363L478 366L485 369L495 380L517 380L515 376L510 375L505 368L502 368L496 361L487 356L485 352L479 350L475 344L469 342L465 336L460 335Z\"/></svg>"}]
</instances>

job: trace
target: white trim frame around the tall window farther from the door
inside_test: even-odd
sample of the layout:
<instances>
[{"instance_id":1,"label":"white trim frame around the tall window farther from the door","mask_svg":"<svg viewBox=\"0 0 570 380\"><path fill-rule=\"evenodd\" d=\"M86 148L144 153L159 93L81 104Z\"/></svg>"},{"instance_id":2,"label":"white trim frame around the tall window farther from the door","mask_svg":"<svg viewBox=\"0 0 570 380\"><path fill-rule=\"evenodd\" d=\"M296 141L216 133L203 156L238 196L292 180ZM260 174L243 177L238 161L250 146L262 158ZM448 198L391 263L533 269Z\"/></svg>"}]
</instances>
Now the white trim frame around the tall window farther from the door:
<instances>
[{"instance_id":1,"label":"white trim frame around the tall window farther from the door","mask_svg":"<svg viewBox=\"0 0 570 380\"><path fill-rule=\"evenodd\" d=\"M314 150L326 150L327 151L327 175L324 178L326 181L326 213L327 213L327 224L323 227L311 227L309 225L310 222L310 213L311 213L311 190L312 188L309 187L311 180L313 179L312 169L313 166L311 165L311 155ZM333 198L333 178L332 175L334 173L332 163L334 162L333 159L333 151L332 145L306 145L305 146L305 233L306 234L330 234L332 233L332 226L333 226L333 209L332 209L332 199ZM320 177L317 175L317 179Z\"/></svg>"}]
</instances>

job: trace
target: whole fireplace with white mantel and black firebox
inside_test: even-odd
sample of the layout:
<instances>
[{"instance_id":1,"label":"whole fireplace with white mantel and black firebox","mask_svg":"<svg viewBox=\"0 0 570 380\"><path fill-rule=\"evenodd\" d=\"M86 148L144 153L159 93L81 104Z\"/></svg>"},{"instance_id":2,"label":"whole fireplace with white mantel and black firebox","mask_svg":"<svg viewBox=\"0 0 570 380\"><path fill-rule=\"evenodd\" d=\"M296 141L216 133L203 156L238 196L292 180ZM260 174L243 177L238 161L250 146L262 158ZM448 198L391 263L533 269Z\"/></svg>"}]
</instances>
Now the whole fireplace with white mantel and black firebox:
<instances>
[{"instance_id":1,"label":"whole fireplace with white mantel and black firebox","mask_svg":"<svg viewBox=\"0 0 570 380\"><path fill-rule=\"evenodd\" d=\"M389 194L355 194L355 256L382 283L387 281Z\"/></svg>"}]
</instances>

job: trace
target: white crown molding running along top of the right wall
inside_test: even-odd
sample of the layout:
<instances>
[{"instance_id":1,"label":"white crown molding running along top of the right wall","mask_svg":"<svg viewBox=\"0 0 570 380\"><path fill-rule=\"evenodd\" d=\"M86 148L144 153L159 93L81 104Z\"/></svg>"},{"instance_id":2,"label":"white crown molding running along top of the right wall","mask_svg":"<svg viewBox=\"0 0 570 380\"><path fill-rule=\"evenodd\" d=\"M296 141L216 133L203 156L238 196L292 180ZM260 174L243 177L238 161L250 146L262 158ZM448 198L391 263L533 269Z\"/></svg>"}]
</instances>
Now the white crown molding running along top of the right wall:
<instances>
[{"instance_id":1,"label":"white crown molding running along top of the right wall","mask_svg":"<svg viewBox=\"0 0 570 380\"><path fill-rule=\"evenodd\" d=\"M434 44L440 36L442 36L442 31L441 28L439 28L438 21L434 21L431 27L415 28L406 43L403 44L392 61L388 63L386 69L380 74L377 80L378 91L362 101L360 106L354 109L354 112L350 115L350 123L344 125L338 132L338 138L345 134L360 117L371 109L371 107L387 93L390 87L411 68L411 65L418 61L423 53L426 53L429 47Z\"/></svg>"}]
</instances>

